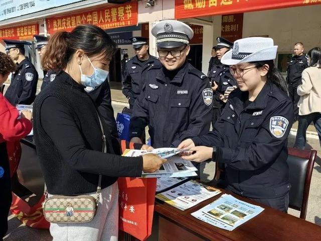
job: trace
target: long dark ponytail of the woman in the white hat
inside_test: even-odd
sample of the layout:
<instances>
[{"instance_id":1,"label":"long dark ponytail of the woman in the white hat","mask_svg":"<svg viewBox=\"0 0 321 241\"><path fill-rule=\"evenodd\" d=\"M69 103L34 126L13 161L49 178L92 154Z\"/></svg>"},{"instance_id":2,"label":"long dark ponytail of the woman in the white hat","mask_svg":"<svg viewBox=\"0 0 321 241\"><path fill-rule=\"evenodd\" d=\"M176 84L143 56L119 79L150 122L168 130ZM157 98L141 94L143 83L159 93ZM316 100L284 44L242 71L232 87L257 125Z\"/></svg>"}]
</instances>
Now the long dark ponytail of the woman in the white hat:
<instances>
[{"instance_id":1,"label":"long dark ponytail of the woman in the white hat","mask_svg":"<svg viewBox=\"0 0 321 241\"><path fill-rule=\"evenodd\" d=\"M271 83L275 84L284 93L289 95L286 81L283 78L281 72L275 67L274 60L263 60L251 63L255 64L256 68L262 68L265 64L267 64L269 66L269 70L267 72L267 81L270 81Z\"/></svg>"}]
</instances>

